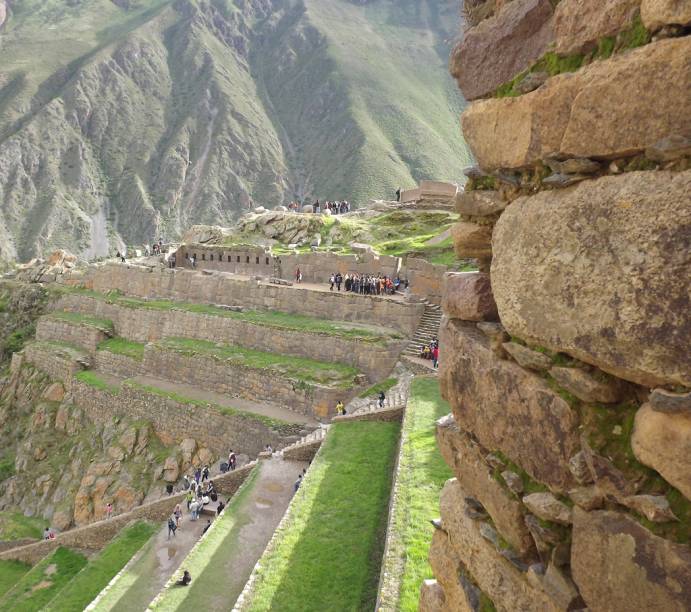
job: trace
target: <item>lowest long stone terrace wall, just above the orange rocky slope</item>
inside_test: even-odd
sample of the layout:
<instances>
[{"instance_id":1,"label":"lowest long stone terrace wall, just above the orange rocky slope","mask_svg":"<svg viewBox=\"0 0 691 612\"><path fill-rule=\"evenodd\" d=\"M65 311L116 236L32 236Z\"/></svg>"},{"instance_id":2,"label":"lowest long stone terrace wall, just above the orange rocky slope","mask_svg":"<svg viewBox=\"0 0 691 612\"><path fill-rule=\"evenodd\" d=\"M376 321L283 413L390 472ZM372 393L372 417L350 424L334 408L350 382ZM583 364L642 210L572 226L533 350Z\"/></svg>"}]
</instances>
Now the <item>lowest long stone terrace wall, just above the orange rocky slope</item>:
<instances>
[{"instance_id":1,"label":"lowest long stone terrace wall, just above the orange rocky slope","mask_svg":"<svg viewBox=\"0 0 691 612\"><path fill-rule=\"evenodd\" d=\"M221 456L234 448L255 457L267 444L280 449L294 440L248 415L224 415L211 406L184 404L129 385L113 393L75 380L72 396L97 423L109 423L113 415L146 419L164 440L181 442L194 436Z\"/></svg>"}]
</instances>

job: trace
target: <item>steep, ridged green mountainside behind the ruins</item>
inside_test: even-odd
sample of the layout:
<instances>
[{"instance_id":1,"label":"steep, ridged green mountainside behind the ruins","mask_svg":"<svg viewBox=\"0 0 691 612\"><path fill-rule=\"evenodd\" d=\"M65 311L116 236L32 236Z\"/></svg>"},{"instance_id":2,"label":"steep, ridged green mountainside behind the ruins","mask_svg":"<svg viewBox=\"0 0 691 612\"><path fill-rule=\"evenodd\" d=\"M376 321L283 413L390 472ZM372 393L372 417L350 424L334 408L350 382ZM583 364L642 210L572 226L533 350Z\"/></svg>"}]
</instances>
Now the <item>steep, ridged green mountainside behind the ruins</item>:
<instances>
[{"instance_id":1,"label":"steep, ridged green mountainside behind the ruins","mask_svg":"<svg viewBox=\"0 0 691 612\"><path fill-rule=\"evenodd\" d=\"M456 0L0 0L0 260L459 180L459 21Z\"/></svg>"}]
</instances>

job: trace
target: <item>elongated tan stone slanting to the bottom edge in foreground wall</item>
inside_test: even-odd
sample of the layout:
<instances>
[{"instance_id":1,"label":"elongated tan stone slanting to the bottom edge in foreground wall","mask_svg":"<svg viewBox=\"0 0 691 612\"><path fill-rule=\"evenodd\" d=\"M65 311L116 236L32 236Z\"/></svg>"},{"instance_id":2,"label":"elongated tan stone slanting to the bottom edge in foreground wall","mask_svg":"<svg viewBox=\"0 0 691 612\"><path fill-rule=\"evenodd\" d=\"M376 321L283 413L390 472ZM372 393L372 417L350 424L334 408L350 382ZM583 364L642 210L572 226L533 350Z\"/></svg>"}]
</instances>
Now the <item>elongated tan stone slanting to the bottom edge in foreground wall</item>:
<instances>
[{"instance_id":1,"label":"elongated tan stone slanting to the bottom edge in foreground wall","mask_svg":"<svg viewBox=\"0 0 691 612\"><path fill-rule=\"evenodd\" d=\"M442 527L480 589L498 610L559 610L550 597L529 584L526 575L483 537L481 523L467 516L466 496L467 492L457 480L447 481L441 493Z\"/></svg>"}]
</instances>

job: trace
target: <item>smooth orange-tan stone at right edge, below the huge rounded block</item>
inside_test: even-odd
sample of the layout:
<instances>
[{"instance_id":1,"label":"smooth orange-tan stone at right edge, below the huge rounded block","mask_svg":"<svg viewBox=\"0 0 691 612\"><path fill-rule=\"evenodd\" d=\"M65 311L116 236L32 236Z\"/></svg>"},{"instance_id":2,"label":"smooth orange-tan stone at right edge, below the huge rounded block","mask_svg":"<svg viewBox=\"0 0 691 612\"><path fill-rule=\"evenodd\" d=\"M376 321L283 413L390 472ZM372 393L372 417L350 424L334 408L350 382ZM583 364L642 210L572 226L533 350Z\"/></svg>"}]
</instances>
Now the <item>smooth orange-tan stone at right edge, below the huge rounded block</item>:
<instances>
[{"instance_id":1,"label":"smooth orange-tan stone at right edge, below the huge rounded block","mask_svg":"<svg viewBox=\"0 0 691 612\"><path fill-rule=\"evenodd\" d=\"M644 404L636 413L631 447L636 458L691 500L691 416Z\"/></svg>"}]
</instances>

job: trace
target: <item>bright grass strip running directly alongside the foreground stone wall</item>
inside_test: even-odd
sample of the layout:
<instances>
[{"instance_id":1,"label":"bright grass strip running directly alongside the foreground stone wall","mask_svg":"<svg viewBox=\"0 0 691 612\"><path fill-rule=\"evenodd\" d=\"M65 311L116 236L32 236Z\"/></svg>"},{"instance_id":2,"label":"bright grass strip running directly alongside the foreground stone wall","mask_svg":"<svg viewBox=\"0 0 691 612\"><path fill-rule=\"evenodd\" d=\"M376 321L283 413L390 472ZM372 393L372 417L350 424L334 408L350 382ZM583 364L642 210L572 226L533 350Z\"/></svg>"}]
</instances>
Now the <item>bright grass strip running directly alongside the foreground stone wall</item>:
<instances>
[{"instance_id":1,"label":"bright grass strip running directly alongside the foreground stone wall","mask_svg":"<svg viewBox=\"0 0 691 612\"><path fill-rule=\"evenodd\" d=\"M391 544L403 559L397 610L417 610L420 585L433 577L427 560L434 532L429 521L439 516L439 494L446 480L453 477L437 448L435 423L449 412L436 378L413 380L403 421Z\"/></svg>"}]
</instances>

